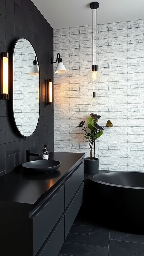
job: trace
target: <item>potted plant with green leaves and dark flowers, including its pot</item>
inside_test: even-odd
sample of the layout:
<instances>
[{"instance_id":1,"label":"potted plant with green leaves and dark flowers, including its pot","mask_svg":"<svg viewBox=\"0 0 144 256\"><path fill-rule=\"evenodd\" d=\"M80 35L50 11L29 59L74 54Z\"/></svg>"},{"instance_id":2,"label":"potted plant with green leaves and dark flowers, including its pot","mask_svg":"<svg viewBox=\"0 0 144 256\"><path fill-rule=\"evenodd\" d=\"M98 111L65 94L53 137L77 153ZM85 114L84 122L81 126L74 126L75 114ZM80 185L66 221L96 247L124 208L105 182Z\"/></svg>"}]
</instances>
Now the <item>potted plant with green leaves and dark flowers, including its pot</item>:
<instances>
[{"instance_id":1,"label":"potted plant with green leaves and dark flowers, including its pot","mask_svg":"<svg viewBox=\"0 0 144 256\"><path fill-rule=\"evenodd\" d=\"M98 119L101 118L101 116L90 113L90 116L88 118L88 129L85 127L85 121L81 121L80 124L77 127L82 127L84 133L84 137L89 141L90 146L90 157L85 157L84 159L84 165L85 165L85 173L98 173L99 170L99 159L95 157L95 140L97 140L103 133L103 130L105 127L113 127L110 120L107 121L106 125L104 127L101 127L97 124ZM94 145L94 157L92 157L92 147Z\"/></svg>"}]
</instances>

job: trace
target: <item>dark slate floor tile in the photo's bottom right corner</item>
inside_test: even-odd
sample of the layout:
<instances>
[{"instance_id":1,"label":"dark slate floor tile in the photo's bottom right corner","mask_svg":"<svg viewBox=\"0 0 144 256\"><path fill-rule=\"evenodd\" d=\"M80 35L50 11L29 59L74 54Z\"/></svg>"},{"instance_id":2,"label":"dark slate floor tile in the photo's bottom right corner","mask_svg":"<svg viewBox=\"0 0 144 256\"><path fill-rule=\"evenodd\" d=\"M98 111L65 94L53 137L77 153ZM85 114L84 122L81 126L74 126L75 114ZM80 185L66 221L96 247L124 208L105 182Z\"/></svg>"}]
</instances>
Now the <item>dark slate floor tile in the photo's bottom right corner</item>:
<instances>
[{"instance_id":1,"label":"dark slate floor tile in the photo's bottom right corner","mask_svg":"<svg viewBox=\"0 0 144 256\"><path fill-rule=\"evenodd\" d=\"M108 256L133 256L135 254L143 254L144 244L123 242L118 240L109 241ZM140 256L140 255L139 255Z\"/></svg>"}]
</instances>

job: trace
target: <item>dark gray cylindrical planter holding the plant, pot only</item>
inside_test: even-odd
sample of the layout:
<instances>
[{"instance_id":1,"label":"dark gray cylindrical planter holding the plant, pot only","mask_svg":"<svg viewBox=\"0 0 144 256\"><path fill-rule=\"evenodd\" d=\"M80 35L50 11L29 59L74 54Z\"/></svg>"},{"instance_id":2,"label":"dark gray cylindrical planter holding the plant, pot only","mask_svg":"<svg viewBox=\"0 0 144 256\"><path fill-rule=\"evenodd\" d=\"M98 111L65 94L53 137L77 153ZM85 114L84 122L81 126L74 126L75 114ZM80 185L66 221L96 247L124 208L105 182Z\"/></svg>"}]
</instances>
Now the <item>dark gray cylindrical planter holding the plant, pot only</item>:
<instances>
[{"instance_id":1,"label":"dark gray cylindrical planter holding the plant, pot only","mask_svg":"<svg viewBox=\"0 0 144 256\"><path fill-rule=\"evenodd\" d=\"M92 157L93 160L90 160L90 157L84 158L84 171L85 173L98 173L99 169L99 159L97 157Z\"/></svg>"}]
</instances>

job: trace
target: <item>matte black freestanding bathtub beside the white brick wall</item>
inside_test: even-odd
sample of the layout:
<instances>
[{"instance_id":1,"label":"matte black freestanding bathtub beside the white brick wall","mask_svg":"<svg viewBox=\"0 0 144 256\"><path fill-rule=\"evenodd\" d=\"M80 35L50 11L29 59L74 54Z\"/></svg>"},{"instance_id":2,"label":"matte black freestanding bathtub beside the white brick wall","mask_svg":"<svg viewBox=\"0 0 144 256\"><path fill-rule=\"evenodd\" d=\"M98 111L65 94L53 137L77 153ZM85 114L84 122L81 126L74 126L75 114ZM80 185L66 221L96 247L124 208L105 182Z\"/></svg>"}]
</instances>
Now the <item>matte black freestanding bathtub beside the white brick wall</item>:
<instances>
[{"instance_id":1,"label":"matte black freestanding bathtub beside the white brick wall","mask_svg":"<svg viewBox=\"0 0 144 256\"><path fill-rule=\"evenodd\" d=\"M109 228L144 234L144 173L89 175L90 211Z\"/></svg>"}]
</instances>

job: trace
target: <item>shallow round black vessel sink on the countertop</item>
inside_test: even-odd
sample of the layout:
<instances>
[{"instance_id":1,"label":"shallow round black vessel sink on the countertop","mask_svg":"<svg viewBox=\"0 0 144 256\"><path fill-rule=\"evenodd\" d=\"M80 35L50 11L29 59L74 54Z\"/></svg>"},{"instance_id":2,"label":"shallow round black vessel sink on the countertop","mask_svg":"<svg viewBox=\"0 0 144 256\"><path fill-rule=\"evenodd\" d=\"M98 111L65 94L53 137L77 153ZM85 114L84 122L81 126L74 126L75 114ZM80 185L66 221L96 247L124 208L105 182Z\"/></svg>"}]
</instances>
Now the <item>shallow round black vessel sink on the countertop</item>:
<instances>
[{"instance_id":1,"label":"shallow round black vessel sink on the countertop","mask_svg":"<svg viewBox=\"0 0 144 256\"><path fill-rule=\"evenodd\" d=\"M22 166L29 173L49 173L58 169L60 164L55 160L36 160L24 163Z\"/></svg>"}]
</instances>

